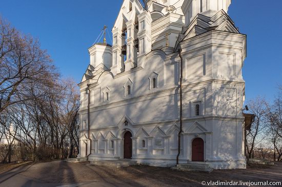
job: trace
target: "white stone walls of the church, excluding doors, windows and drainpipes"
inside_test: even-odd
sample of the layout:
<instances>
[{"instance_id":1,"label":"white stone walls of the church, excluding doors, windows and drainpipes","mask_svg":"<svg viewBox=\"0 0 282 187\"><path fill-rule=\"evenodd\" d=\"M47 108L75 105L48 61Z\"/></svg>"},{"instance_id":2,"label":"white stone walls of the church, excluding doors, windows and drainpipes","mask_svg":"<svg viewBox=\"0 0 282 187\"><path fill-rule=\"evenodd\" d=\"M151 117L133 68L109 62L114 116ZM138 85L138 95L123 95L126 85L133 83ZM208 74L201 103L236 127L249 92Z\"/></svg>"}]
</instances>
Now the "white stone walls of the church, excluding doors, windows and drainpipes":
<instances>
[{"instance_id":1,"label":"white stone walls of the church, excluding doors, windows and drainpipes","mask_svg":"<svg viewBox=\"0 0 282 187\"><path fill-rule=\"evenodd\" d=\"M124 13L128 2L124 1L122 7L125 8L121 12ZM153 2L157 1L147 2L148 9L155 6ZM184 1L184 5L185 2L189 1ZM163 5L166 3L163 2ZM225 5L228 8L229 1L226 0ZM138 7L135 3L132 6ZM197 9L196 5L194 8ZM186 10L185 6L182 10ZM133 160L153 166L175 165L180 115L180 56L176 49L182 49L184 79L180 162L191 161L192 141L200 137L204 140L204 160L212 168L246 168L242 150L245 81L241 75L246 56L246 36L216 30L197 34L199 31L195 30L194 35L178 42L179 37L183 37L179 33L185 25L184 20L190 19L190 15L184 17L172 12L153 20L150 11L140 10L136 13L139 25L136 35L139 50L143 47L145 50L127 60L123 69L123 64L115 63L121 58L122 38L119 35L124 26L134 26L136 20L134 23L130 20L136 17L128 14L131 19L125 21L120 15L113 29L113 37L117 41L112 50L117 56L113 55L111 71L100 72L97 77L79 84L82 93L81 124L88 123L85 95L88 84L91 96L90 137L88 129L80 130L79 156L86 156L91 149L90 160L124 158L124 133L130 131ZM171 32L169 46L164 47L164 33L167 31ZM140 41L143 38L146 42L142 45ZM133 42L132 38L128 42ZM153 79L156 80L155 88L152 86ZM105 99L106 93L109 100ZM199 115L196 115L196 105L199 106Z\"/></svg>"}]
</instances>

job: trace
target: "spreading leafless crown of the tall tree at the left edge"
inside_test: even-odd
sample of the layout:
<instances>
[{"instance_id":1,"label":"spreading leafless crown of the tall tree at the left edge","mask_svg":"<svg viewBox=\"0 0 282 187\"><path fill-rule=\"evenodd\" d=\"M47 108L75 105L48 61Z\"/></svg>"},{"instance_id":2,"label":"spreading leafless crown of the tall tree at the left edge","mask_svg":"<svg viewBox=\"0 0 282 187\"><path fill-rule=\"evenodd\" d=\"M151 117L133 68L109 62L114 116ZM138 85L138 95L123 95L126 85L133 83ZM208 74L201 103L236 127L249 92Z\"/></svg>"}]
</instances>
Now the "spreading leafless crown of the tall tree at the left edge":
<instances>
[{"instance_id":1,"label":"spreading leafless crown of the tall tree at the left edge","mask_svg":"<svg viewBox=\"0 0 282 187\"><path fill-rule=\"evenodd\" d=\"M29 83L45 84L55 73L46 51L32 37L10 27L0 17L0 113L9 105L31 99Z\"/></svg>"}]
</instances>

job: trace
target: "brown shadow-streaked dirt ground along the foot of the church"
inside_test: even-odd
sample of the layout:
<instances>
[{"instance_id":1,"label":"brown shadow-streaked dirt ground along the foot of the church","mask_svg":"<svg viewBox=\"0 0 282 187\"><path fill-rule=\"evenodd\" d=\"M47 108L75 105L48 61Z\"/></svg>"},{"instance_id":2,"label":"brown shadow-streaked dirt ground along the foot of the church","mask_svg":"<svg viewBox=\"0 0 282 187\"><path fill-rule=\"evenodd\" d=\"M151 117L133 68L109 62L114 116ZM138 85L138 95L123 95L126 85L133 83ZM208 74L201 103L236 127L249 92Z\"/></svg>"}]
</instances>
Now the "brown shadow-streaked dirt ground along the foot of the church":
<instances>
[{"instance_id":1,"label":"brown shadow-streaked dirt ground along the foot of the church","mask_svg":"<svg viewBox=\"0 0 282 187\"><path fill-rule=\"evenodd\" d=\"M92 166L88 162L51 161L36 163L21 174L50 183L107 181L126 182L133 186L203 186L203 180L282 181L282 162L275 162L274 166L252 165L247 170L214 170L212 173L200 173L143 165L112 168Z\"/></svg>"}]
</instances>

